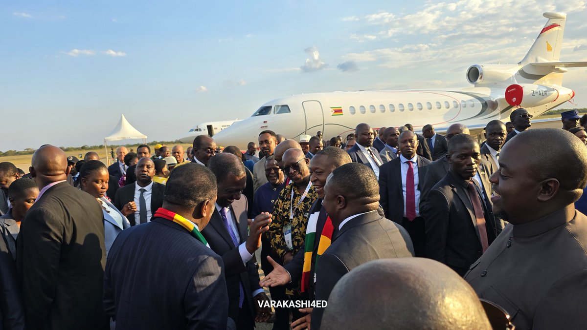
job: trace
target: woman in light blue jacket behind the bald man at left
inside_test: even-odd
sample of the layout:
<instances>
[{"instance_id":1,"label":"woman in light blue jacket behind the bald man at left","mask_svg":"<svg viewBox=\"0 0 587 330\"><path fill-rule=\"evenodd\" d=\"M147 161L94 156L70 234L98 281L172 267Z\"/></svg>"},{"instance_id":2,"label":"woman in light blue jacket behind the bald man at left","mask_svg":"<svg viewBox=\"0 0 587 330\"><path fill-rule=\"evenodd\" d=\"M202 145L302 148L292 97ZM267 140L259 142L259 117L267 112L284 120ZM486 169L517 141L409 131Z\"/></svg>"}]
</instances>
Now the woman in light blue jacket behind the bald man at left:
<instances>
[{"instance_id":1,"label":"woman in light blue jacket behind the bald man at left","mask_svg":"<svg viewBox=\"0 0 587 330\"><path fill-rule=\"evenodd\" d=\"M126 157L124 157L126 162ZM104 193L108 190L108 168L100 161L88 161L82 166L79 173L80 189L96 198L97 203L102 206L104 219L104 244L106 245L106 257L116 236L123 229L130 227L130 222L119 210L112 205Z\"/></svg>"}]
</instances>

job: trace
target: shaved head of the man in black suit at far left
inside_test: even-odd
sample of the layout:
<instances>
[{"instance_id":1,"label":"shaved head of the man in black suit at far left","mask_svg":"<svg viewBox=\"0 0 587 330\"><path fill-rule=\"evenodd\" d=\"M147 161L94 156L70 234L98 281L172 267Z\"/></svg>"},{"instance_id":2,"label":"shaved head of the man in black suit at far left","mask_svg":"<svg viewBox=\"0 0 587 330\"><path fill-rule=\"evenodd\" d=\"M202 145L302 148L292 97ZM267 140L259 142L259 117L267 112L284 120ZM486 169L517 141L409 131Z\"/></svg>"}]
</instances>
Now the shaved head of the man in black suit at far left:
<instances>
[{"instance_id":1,"label":"shaved head of the man in black suit at far left","mask_svg":"<svg viewBox=\"0 0 587 330\"><path fill-rule=\"evenodd\" d=\"M68 158L62 149L54 145L43 145L31 159L31 176L38 178L39 189L68 177Z\"/></svg>"}]
</instances>

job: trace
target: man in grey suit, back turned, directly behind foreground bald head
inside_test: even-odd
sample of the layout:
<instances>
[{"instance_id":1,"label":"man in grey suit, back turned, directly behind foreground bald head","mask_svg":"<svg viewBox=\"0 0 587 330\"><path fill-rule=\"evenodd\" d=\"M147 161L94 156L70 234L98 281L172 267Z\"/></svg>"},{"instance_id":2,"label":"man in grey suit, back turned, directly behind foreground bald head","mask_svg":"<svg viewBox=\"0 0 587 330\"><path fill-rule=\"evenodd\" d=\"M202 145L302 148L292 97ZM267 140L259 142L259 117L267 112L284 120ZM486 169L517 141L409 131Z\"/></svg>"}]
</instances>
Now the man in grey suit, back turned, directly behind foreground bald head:
<instances>
[{"instance_id":1,"label":"man in grey suit, back turned, directly behind foreground bald head","mask_svg":"<svg viewBox=\"0 0 587 330\"><path fill-rule=\"evenodd\" d=\"M367 166L340 166L330 174L324 189L323 206L338 233L316 261L316 301L328 300L340 278L360 264L414 255L406 230L377 213L379 185ZM323 308L313 309L312 329L319 329L322 314Z\"/></svg>"}]
</instances>

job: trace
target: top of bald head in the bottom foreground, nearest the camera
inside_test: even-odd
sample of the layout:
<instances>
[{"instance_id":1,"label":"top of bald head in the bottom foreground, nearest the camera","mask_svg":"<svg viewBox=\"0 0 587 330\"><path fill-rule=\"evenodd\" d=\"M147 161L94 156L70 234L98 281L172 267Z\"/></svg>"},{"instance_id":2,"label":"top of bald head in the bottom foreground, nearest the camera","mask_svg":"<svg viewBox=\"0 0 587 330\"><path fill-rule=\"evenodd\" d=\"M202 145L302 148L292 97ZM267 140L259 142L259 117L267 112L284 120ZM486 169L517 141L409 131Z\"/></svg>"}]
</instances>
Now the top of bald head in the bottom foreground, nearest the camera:
<instances>
[{"instance_id":1,"label":"top of bald head in the bottom foreground, nearest the camera","mask_svg":"<svg viewBox=\"0 0 587 330\"><path fill-rule=\"evenodd\" d=\"M394 258L369 261L341 278L322 329L489 330L491 325L475 292L450 268L430 259Z\"/></svg>"}]
</instances>

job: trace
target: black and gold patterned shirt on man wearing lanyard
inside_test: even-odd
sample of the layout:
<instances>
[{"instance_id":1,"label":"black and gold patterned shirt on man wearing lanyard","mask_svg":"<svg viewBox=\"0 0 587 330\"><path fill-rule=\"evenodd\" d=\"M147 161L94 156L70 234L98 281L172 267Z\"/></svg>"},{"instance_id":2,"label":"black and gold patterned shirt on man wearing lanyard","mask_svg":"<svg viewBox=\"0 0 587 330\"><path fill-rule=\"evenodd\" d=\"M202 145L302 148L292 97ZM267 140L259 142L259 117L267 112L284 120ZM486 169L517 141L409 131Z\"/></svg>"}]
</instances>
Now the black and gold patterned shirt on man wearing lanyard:
<instances>
[{"instance_id":1,"label":"black and gold patterned shirt on man wearing lanyard","mask_svg":"<svg viewBox=\"0 0 587 330\"><path fill-rule=\"evenodd\" d=\"M294 190L293 201L291 198L292 189ZM275 201L273 217L271 219L271 224L269 225L269 237L271 239L271 245L281 258L285 256L285 253L289 252L289 248L285 243L284 228L290 224L290 206L293 208L298 205L302 194L303 191L298 192L298 188L294 182L289 182L289 184L281 190L279 198ZM298 208L294 210L294 219L291 220L292 245L294 246L294 250L291 252L294 256L298 250L303 249L303 240L306 237L306 224L308 224L309 212L316 199L318 199L318 193L314 190L314 186L311 186L306 198L304 198Z\"/></svg>"}]
</instances>

